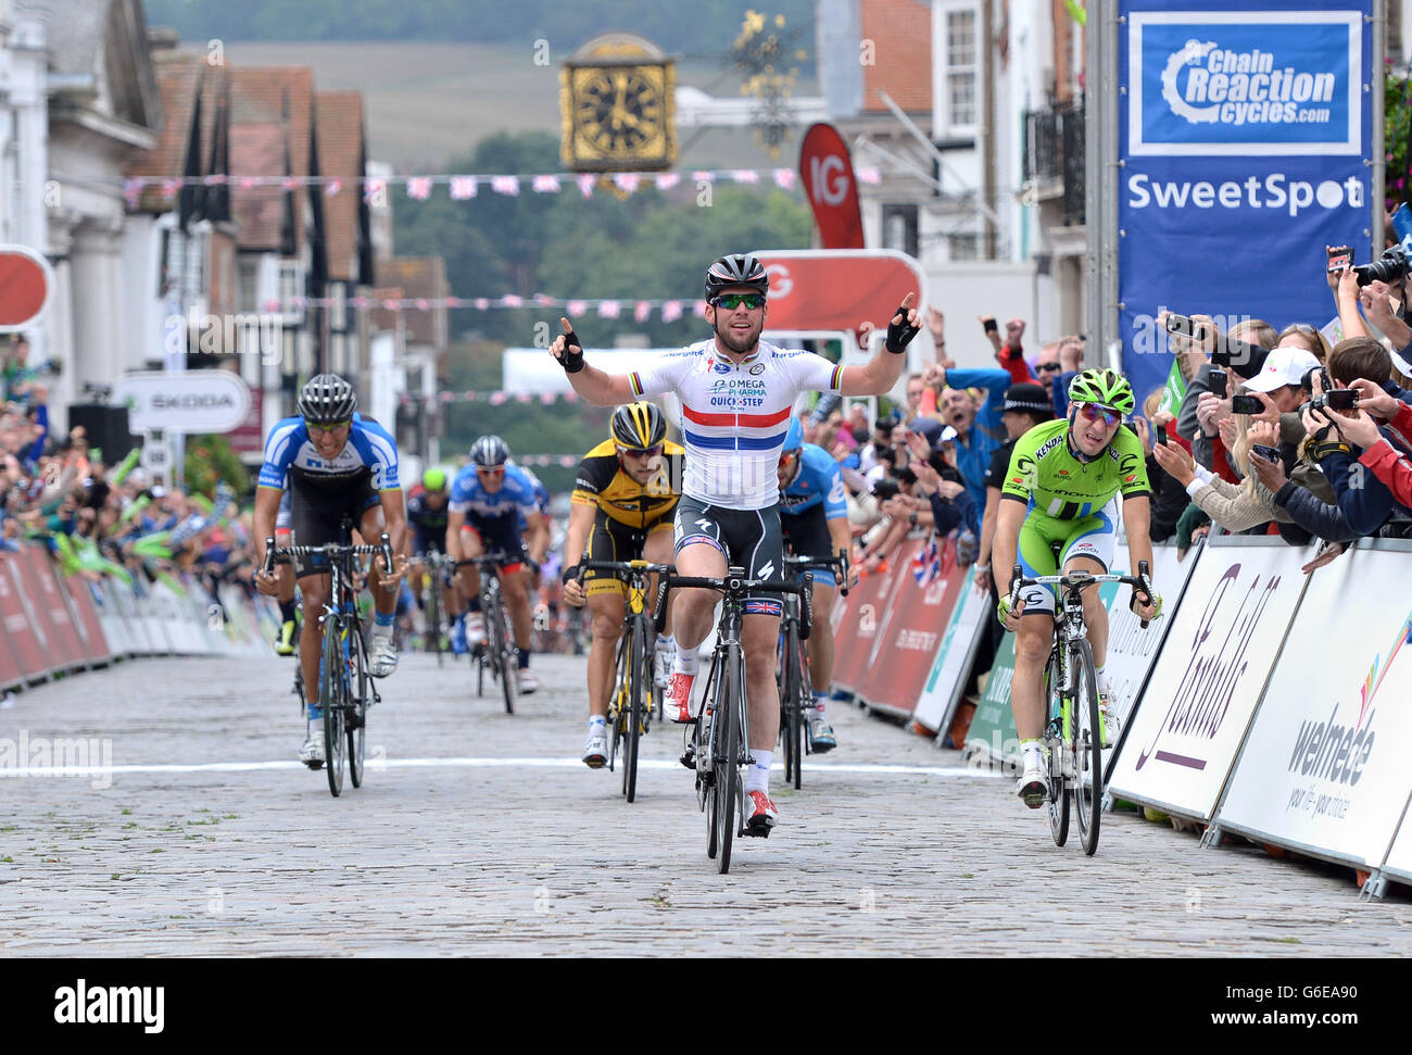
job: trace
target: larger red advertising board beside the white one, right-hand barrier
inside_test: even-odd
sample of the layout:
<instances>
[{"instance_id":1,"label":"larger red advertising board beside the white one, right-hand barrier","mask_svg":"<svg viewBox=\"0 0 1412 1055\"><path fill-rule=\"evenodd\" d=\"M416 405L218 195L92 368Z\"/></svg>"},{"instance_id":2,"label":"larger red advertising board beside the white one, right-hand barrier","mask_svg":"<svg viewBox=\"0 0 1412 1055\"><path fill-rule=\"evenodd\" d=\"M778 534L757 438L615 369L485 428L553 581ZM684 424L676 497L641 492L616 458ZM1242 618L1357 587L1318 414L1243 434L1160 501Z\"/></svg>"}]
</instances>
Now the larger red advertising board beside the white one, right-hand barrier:
<instances>
[{"instance_id":1,"label":"larger red advertising board beside the white one, right-hand barrier","mask_svg":"<svg viewBox=\"0 0 1412 1055\"><path fill-rule=\"evenodd\" d=\"M857 693L874 710L899 717L916 709L942 645L943 627L967 579L966 568L956 561L956 541L940 538L936 540L936 578L923 586L912 562L926 552L928 542L922 538L901 547L898 561L904 573L892 592L887 626L878 636L878 648ZM908 552L911 556L905 556Z\"/></svg>"}]
</instances>

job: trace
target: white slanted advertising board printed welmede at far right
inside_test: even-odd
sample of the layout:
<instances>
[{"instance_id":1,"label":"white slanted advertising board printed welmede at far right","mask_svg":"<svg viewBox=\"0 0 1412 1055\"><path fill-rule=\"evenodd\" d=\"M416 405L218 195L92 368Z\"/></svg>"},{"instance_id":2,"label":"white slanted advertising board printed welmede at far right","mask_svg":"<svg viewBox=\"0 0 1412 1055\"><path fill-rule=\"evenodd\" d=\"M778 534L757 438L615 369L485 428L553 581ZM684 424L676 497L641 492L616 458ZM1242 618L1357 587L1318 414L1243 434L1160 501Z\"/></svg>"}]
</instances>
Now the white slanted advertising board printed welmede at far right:
<instances>
[{"instance_id":1,"label":"white slanted advertising board printed welmede at far right","mask_svg":"<svg viewBox=\"0 0 1412 1055\"><path fill-rule=\"evenodd\" d=\"M1409 549L1364 540L1309 576L1216 828L1382 863L1412 798L1412 600L1387 589L1406 579Z\"/></svg>"}]
</instances>

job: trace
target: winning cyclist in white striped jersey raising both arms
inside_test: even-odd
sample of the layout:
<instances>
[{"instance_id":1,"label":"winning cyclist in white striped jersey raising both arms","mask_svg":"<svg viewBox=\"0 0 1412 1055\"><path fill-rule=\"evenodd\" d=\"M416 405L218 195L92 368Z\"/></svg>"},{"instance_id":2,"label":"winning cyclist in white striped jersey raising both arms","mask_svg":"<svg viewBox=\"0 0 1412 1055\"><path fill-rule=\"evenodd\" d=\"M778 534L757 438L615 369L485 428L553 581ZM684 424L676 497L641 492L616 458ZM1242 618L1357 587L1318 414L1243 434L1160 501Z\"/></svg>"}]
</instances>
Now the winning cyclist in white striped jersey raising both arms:
<instances>
[{"instance_id":1,"label":"winning cyclist in white striped jersey raising both arms","mask_svg":"<svg viewBox=\"0 0 1412 1055\"><path fill-rule=\"evenodd\" d=\"M888 325L885 350L866 366L836 366L812 352L781 349L760 339L770 277L753 256L722 257L706 273L709 339L669 352L647 370L607 374L587 366L568 319L549 353L573 390L602 407L674 393L682 404L686 476L676 506L676 571L722 578L730 565L751 579L782 579L779 541L779 452L791 408L806 391L881 395L902 376L907 343L921 325L908 294ZM689 722L690 689L700 643L710 633L719 595L679 590L672 600L676 658L665 710ZM741 644L754 764L746 778L744 830L768 835L778 821L770 799L770 765L779 734L775 650L781 604L774 595L746 600Z\"/></svg>"}]
</instances>

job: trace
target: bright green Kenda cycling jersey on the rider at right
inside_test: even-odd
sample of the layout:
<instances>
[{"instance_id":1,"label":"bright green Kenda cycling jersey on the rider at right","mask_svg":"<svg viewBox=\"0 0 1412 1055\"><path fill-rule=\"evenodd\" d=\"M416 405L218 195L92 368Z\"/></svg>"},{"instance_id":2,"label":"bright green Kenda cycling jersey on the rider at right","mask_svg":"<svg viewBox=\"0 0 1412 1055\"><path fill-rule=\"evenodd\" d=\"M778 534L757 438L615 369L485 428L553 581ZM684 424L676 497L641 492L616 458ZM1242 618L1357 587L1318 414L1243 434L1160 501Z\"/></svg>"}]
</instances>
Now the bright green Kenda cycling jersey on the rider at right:
<instances>
[{"instance_id":1,"label":"bright green Kenda cycling jersey on the rider at right","mask_svg":"<svg viewBox=\"0 0 1412 1055\"><path fill-rule=\"evenodd\" d=\"M1113 441L1093 460L1084 462L1069 439L1069 421L1046 421L1015 443L1001 497L1025 501L1058 520L1079 520L1099 513L1114 494L1124 499L1151 494L1142 441L1120 427Z\"/></svg>"}]
</instances>

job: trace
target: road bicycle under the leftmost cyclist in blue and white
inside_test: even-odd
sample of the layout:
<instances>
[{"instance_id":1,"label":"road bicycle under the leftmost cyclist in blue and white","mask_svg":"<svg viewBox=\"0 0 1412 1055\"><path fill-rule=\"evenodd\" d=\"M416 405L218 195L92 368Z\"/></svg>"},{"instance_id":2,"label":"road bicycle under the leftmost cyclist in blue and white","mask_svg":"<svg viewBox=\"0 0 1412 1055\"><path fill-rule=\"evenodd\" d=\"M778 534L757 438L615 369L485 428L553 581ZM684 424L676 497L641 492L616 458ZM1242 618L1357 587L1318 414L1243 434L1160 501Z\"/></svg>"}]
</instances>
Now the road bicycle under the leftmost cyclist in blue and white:
<instances>
[{"instance_id":1,"label":"road bicycle under the leftmost cyclist in blue and white","mask_svg":"<svg viewBox=\"0 0 1412 1055\"><path fill-rule=\"evenodd\" d=\"M381 556L383 566L393 568L393 545L387 532L377 545L352 545L353 523L343 520L339 535L342 544L275 547L265 540L267 576L274 573L277 558L322 556L329 565L329 599L319 616L323 641L319 650L319 709L323 712L323 768L329 791L343 792L343 764L347 761L353 787L363 785L364 734L367 709L381 702L369 669L367 638L357 612L357 562L364 556ZM299 681L302 696L302 678Z\"/></svg>"}]
</instances>

